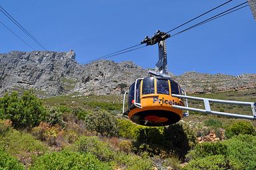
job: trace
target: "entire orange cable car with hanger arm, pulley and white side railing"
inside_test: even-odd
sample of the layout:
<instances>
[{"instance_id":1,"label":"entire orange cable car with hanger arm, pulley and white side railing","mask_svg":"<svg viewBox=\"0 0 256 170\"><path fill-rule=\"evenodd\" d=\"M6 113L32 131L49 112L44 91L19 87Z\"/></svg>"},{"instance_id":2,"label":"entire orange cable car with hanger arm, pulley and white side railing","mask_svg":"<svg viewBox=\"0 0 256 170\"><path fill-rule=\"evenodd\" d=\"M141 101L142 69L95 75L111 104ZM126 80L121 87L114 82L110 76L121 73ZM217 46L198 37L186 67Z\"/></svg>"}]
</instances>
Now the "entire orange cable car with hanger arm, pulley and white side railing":
<instances>
[{"instance_id":1,"label":"entire orange cable car with hanger arm, pulley and white side railing","mask_svg":"<svg viewBox=\"0 0 256 170\"><path fill-rule=\"evenodd\" d=\"M145 37L141 44L155 45L158 43L159 60L155 71L149 71L149 77L138 78L125 91L123 97L123 115L131 121L145 126L165 126L177 123L181 118L188 117L189 111L208 113L242 119L256 119L256 103L245 101L225 101L187 96L180 85L167 75L167 52L165 40L171 37L167 33L157 31L153 37ZM128 108L125 111L125 96L128 96ZM189 107L187 100L203 101L205 109ZM212 111L210 103L247 105L252 115ZM183 112L186 111L186 112Z\"/></svg>"}]
</instances>

